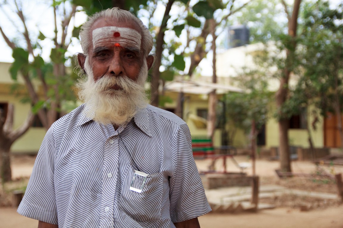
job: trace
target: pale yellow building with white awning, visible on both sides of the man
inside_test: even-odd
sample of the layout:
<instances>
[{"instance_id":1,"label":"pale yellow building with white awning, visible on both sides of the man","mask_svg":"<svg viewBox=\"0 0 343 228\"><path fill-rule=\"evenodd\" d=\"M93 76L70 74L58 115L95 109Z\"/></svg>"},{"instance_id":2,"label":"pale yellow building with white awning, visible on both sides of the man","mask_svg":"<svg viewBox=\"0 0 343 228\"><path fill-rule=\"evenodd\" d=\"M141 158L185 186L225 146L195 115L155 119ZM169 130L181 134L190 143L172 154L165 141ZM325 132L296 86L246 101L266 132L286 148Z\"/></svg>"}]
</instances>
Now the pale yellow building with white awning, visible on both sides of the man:
<instances>
[{"instance_id":1,"label":"pale yellow building with white awning, visible on both sides of the man","mask_svg":"<svg viewBox=\"0 0 343 228\"><path fill-rule=\"evenodd\" d=\"M273 46L270 47L271 49ZM206 116L208 110L208 94L213 89L216 89L217 96L220 98L222 94L227 92L243 92L232 86L230 78L235 77L237 72L243 67L253 67L254 53L264 49L263 44L251 44L229 49L225 52L217 54L217 81L212 85L211 77L201 76L192 79L192 81L181 80L177 78L173 82L167 82L163 90L160 92L171 97L174 102L167 103L165 108L174 111L176 108L176 100L179 92L185 93L183 106L183 119L187 122L192 137L206 137ZM22 103L21 100L25 97L25 90L12 92L13 81L10 78L9 67L10 63L0 63L0 107L5 109L7 104L13 103L15 106L14 126L20 126L26 118L27 110L30 108L28 103ZM211 66L209 66L211 68ZM19 77L20 78L20 77ZM19 85L23 86L23 82L19 80ZM189 85L187 83L191 83ZM296 76L292 76L290 85L296 83ZM212 86L212 87L211 87ZM270 90L276 91L279 87L279 81L271 79ZM181 89L182 88L182 89ZM311 110L304 110L304 113L294 116L290 120L289 129L289 144L307 148L308 132L307 126L311 126L313 116ZM317 129L310 127L310 133L315 147L339 147L340 140L338 130L335 126L335 118L329 116L327 119L320 118L318 120ZM13 152L37 152L40 143L45 135L45 129L34 125L29 131L18 139L12 146ZM250 145L250 136L242 130L238 130L233 139L233 145L237 148L248 148ZM215 130L214 146L222 145L222 131L220 128ZM277 121L269 118L265 124L263 131L260 133L259 145L265 148L277 147L279 145L279 129Z\"/></svg>"}]
</instances>

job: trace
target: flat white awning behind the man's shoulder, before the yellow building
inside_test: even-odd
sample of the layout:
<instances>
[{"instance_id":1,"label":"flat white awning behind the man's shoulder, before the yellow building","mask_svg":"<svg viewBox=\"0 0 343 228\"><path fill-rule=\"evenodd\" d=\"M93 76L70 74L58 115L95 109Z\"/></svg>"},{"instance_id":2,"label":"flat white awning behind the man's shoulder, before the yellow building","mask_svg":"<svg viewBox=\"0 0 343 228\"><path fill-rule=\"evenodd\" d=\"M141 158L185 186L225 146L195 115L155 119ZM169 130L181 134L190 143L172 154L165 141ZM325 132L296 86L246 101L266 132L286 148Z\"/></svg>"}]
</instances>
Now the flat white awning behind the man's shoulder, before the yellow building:
<instances>
[{"instance_id":1,"label":"flat white awning behind the man's shoulder, before the yellow building","mask_svg":"<svg viewBox=\"0 0 343 228\"><path fill-rule=\"evenodd\" d=\"M227 92L243 93L244 90L230 85L217 84L212 82L197 82L192 80L168 81L164 85L164 91L189 93L189 94L209 94L216 90L216 94Z\"/></svg>"}]
</instances>

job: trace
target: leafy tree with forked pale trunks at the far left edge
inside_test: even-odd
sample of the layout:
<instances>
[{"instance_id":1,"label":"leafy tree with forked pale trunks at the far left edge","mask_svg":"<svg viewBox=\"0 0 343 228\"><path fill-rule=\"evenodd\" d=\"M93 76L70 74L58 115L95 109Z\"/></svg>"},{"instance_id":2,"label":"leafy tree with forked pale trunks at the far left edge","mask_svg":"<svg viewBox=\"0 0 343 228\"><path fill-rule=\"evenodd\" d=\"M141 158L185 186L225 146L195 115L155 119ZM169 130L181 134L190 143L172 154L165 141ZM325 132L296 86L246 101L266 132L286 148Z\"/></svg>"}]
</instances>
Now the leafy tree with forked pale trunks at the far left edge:
<instances>
[{"instance_id":1,"label":"leafy tree with forked pale trunks at the far left edge","mask_svg":"<svg viewBox=\"0 0 343 228\"><path fill-rule=\"evenodd\" d=\"M47 130L63 113L62 106L66 100L74 100L72 91L73 78L67 72L66 51L71 44L73 18L76 6L69 1L51 1L46 9L51 10L52 36L44 35L39 26L29 27L30 16L26 14L28 9L24 1L12 0L1 1L0 10L7 17L6 23L0 22L0 32L8 46L12 49L14 62L10 67L10 75L14 82L21 77L27 90L27 97L23 100L32 106L31 111L38 115L44 128ZM11 31L8 26L12 23L15 30ZM39 24L39 23L37 23ZM13 30L13 29L12 29ZM46 31L44 31L46 32ZM43 59L44 43L50 41L52 46L50 58ZM11 107L11 105L9 106ZM13 142L23 135L33 121L33 115L28 115L23 125L13 130L13 108L9 109L8 118L0 121L0 155L2 162L1 173L5 173L4 181L11 179L10 170L10 147ZM12 121L10 121L12 120Z\"/></svg>"}]
</instances>

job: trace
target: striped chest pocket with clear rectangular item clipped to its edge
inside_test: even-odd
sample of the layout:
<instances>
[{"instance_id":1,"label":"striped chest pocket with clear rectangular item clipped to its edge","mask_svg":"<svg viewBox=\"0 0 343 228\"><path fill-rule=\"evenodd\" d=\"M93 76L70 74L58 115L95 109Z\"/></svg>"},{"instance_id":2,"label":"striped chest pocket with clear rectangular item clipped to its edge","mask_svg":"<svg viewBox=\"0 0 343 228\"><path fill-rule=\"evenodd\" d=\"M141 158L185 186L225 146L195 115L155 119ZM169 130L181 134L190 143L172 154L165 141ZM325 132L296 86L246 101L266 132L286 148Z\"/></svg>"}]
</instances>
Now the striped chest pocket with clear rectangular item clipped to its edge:
<instances>
[{"instance_id":1,"label":"striped chest pocket with clear rectangular item clipped to its edge","mask_svg":"<svg viewBox=\"0 0 343 228\"><path fill-rule=\"evenodd\" d=\"M129 166L123 176L119 210L139 222L161 220L163 174L149 174L146 177L142 192L130 190L133 176L134 169ZM136 175L133 187L140 189L144 178Z\"/></svg>"}]
</instances>

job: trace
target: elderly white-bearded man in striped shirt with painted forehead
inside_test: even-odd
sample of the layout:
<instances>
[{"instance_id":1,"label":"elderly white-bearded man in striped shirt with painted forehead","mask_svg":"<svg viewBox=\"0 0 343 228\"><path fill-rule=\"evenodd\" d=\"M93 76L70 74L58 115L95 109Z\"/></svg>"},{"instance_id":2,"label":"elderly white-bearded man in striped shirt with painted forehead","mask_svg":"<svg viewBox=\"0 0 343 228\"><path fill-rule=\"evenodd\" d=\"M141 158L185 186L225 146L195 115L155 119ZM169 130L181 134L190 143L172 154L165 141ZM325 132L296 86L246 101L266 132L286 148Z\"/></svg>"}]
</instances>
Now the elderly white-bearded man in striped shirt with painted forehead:
<instances>
[{"instance_id":1,"label":"elderly white-bearded man in striped shirt with painted forehead","mask_svg":"<svg viewBox=\"0 0 343 228\"><path fill-rule=\"evenodd\" d=\"M211 208L189 129L146 103L151 34L113 8L90 17L80 36L85 104L47 132L18 212L42 228L200 227Z\"/></svg>"}]
</instances>

